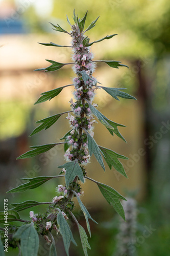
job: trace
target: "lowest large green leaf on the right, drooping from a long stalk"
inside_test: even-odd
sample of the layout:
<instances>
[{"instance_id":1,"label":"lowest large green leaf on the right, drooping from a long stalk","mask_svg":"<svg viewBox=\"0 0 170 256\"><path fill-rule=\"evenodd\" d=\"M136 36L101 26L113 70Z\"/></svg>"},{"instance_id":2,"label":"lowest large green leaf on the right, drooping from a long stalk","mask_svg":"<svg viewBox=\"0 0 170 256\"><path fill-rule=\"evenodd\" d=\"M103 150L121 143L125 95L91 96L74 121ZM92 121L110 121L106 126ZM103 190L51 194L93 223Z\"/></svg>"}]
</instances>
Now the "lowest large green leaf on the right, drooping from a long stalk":
<instances>
[{"instance_id":1,"label":"lowest large green leaf on the right, drooping from a long stalk","mask_svg":"<svg viewBox=\"0 0 170 256\"><path fill-rule=\"evenodd\" d=\"M113 206L113 208L117 211L117 213L125 220L125 212L124 208L119 199L126 199L121 196L115 189L112 187L102 184L100 182L96 182L99 189L101 190L102 195L106 199L106 201Z\"/></svg>"}]
</instances>

